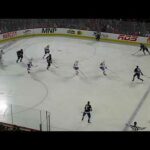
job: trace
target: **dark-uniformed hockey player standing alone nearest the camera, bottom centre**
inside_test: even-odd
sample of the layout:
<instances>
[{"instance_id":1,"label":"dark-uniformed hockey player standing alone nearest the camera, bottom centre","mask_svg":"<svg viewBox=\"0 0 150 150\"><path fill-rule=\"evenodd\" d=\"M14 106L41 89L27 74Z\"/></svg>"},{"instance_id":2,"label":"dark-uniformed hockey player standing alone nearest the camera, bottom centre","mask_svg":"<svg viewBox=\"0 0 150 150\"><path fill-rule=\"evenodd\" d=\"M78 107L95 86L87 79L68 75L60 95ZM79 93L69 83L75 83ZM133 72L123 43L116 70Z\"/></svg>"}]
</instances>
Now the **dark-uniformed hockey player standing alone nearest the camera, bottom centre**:
<instances>
[{"instance_id":1,"label":"dark-uniformed hockey player standing alone nearest the camera, bottom centre","mask_svg":"<svg viewBox=\"0 0 150 150\"><path fill-rule=\"evenodd\" d=\"M85 105L84 107L84 112L83 112L83 116L82 116L82 121L84 119L84 116L87 115L88 116L88 123L91 123L90 122L90 118L91 118L91 112L92 111L92 107L90 105L90 102L88 101L87 104Z\"/></svg>"}]
</instances>

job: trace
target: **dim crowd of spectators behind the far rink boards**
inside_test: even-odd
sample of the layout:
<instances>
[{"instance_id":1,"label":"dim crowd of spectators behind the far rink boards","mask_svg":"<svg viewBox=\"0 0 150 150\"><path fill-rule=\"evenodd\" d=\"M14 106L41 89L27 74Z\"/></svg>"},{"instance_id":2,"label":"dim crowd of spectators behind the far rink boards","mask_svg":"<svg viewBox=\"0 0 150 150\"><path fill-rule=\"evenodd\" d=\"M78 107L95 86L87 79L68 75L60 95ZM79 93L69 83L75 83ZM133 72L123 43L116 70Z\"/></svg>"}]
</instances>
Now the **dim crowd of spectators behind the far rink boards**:
<instances>
[{"instance_id":1,"label":"dim crowd of spectators behind the far rink boards","mask_svg":"<svg viewBox=\"0 0 150 150\"><path fill-rule=\"evenodd\" d=\"M150 36L150 23L135 19L0 19L0 33L31 28L70 28Z\"/></svg>"}]
</instances>

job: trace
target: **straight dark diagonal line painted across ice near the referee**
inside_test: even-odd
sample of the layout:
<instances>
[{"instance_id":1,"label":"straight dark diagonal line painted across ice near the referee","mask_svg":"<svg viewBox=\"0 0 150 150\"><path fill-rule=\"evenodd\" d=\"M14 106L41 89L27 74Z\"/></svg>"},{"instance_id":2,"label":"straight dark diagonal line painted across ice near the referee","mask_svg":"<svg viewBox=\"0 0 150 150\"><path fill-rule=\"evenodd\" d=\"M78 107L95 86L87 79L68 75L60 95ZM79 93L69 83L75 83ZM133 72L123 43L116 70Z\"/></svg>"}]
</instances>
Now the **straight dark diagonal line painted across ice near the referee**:
<instances>
[{"instance_id":1,"label":"straight dark diagonal line painted across ice near the referee","mask_svg":"<svg viewBox=\"0 0 150 150\"><path fill-rule=\"evenodd\" d=\"M139 110L141 109L142 105L144 104L148 94L150 92L150 86L148 87L148 89L146 90L145 94L143 95L142 99L140 100L139 104L137 105L137 107L135 108L135 110L133 111L131 117L129 118L129 120L127 121L127 124L131 124L134 120L134 118L136 117L136 115L138 114ZM128 130L128 126L125 126L123 128L123 131L127 131Z\"/></svg>"}]
</instances>

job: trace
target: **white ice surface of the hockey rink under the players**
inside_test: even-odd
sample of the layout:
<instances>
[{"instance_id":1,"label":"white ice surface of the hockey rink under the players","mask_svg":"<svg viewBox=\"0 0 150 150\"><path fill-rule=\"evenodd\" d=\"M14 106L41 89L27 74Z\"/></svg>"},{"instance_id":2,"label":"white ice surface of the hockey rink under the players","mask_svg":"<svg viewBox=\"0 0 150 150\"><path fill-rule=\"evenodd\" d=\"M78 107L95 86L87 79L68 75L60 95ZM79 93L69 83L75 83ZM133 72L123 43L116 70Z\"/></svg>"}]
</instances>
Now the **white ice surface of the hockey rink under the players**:
<instances>
[{"instance_id":1,"label":"white ice surface of the hockey rink under the players","mask_svg":"<svg viewBox=\"0 0 150 150\"><path fill-rule=\"evenodd\" d=\"M42 59L48 44L53 59L49 70ZM0 47L5 52L0 66L0 102L28 108L16 114L23 111L30 117L32 109L47 110L52 131L130 131L126 123L134 121L146 127L144 131L150 130L150 55L131 55L139 47L65 37L26 38ZM16 63L16 51L21 48L23 62ZM34 66L28 74L30 58ZM78 76L73 70L75 60L79 60ZM104 60L107 76L99 69ZM143 83L132 82L137 65L145 75L141 76ZM93 108L90 124L86 117L81 121L87 101ZM30 121L34 127L34 120Z\"/></svg>"}]
</instances>

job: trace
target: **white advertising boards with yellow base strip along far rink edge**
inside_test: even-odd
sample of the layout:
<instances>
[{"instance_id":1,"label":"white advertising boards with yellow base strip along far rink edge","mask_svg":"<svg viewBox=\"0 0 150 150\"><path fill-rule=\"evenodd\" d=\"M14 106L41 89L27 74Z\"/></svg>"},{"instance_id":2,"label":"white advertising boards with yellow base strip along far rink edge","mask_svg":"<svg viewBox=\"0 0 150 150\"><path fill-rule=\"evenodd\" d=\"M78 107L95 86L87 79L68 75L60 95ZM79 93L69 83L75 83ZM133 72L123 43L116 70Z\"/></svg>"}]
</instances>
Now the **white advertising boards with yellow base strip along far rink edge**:
<instances>
[{"instance_id":1,"label":"white advertising boards with yellow base strip along far rink edge","mask_svg":"<svg viewBox=\"0 0 150 150\"><path fill-rule=\"evenodd\" d=\"M96 31L86 31L67 28L36 28L0 34L0 42L6 42L10 40L16 40L18 38L20 39L34 36L64 36L64 37L75 37L80 39L95 40L95 33ZM149 37L140 37L125 34L113 34L105 32L101 32L100 41L115 42L130 45L139 45L139 43L144 43L147 46L150 45Z\"/></svg>"}]
</instances>

